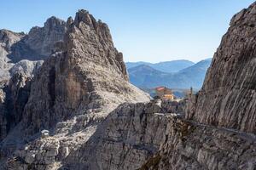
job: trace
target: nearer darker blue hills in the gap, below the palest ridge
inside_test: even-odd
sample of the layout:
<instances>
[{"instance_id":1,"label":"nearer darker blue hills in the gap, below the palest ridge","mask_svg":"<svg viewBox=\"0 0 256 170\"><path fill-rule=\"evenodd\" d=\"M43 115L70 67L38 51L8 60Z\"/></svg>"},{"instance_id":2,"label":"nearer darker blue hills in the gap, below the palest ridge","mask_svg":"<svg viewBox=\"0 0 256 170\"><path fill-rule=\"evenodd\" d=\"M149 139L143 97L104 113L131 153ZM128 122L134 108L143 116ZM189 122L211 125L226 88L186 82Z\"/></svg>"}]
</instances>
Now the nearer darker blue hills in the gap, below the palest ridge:
<instances>
[{"instance_id":1,"label":"nearer darker blue hills in the gap, below the palest ridge","mask_svg":"<svg viewBox=\"0 0 256 170\"><path fill-rule=\"evenodd\" d=\"M176 72L165 72L153 68L152 65L142 63L128 69L130 81L138 88L155 88L166 86L168 88L200 89L212 59L204 59ZM167 63L167 62L163 62ZM192 62L191 62L192 63ZM128 67L129 67L128 66ZM169 69L171 71L171 69Z\"/></svg>"}]
</instances>

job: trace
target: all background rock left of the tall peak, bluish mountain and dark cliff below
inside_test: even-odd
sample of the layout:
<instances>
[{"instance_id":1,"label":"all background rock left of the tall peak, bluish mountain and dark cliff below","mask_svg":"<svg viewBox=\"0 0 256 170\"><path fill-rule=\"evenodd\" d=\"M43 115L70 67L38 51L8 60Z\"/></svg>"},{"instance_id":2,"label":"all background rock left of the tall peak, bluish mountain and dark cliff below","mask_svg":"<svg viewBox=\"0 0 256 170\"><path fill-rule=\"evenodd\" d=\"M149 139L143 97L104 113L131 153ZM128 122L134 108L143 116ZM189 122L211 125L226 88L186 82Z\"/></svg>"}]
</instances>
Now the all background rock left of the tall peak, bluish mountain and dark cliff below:
<instances>
[{"instance_id":1,"label":"all background rock left of the tall peak, bluish mountain and dark cliff below","mask_svg":"<svg viewBox=\"0 0 256 170\"><path fill-rule=\"evenodd\" d=\"M0 140L21 120L30 92L26 83L30 84L43 63L38 59L49 57L55 42L62 41L65 32L66 22L55 17L49 18L44 27L32 28L27 35L0 30Z\"/></svg>"}]
</instances>

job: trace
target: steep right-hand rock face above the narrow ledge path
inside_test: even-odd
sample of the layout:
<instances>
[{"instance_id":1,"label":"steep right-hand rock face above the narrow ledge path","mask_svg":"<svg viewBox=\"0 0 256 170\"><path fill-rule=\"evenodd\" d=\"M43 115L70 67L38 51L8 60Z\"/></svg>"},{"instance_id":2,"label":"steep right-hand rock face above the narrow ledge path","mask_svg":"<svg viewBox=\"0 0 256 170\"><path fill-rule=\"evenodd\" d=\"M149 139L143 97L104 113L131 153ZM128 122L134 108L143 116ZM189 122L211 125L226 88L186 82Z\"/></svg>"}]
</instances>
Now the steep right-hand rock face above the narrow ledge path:
<instances>
[{"instance_id":1,"label":"steep right-hand rock face above the narrow ledge path","mask_svg":"<svg viewBox=\"0 0 256 170\"><path fill-rule=\"evenodd\" d=\"M256 133L255 22L256 3L233 17L187 118Z\"/></svg>"}]
</instances>

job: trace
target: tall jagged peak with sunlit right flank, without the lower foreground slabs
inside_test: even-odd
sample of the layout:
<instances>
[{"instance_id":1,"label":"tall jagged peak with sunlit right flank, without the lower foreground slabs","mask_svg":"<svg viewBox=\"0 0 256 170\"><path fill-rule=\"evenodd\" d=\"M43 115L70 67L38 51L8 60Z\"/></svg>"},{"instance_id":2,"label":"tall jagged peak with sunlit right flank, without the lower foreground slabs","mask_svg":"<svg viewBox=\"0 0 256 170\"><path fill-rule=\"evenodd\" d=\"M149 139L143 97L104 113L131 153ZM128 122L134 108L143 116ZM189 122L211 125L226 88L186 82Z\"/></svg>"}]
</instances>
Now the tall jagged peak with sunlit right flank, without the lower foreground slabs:
<instances>
[{"instance_id":1,"label":"tall jagged peak with sunlit right flank, without the lower foreground slabs","mask_svg":"<svg viewBox=\"0 0 256 170\"><path fill-rule=\"evenodd\" d=\"M108 26L87 11L67 21L64 42L55 50L32 82L24 111L24 122L32 131L86 111L107 114L121 102L140 100L137 94L147 99L127 81L122 54L113 47Z\"/></svg>"}]
</instances>

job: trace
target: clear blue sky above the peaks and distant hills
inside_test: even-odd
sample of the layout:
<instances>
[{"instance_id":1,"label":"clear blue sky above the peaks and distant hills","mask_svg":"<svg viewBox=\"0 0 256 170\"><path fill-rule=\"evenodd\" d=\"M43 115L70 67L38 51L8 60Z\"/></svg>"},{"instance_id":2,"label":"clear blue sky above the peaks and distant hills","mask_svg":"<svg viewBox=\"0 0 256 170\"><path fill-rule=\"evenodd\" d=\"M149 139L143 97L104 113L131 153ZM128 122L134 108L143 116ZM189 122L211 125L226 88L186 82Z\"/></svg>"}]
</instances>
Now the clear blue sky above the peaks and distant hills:
<instances>
[{"instance_id":1,"label":"clear blue sky above the peaks and distant hills","mask_svg":"<svg viewBox=\"0 0 256 170\"><path fill-rule=\"evenodd\" d=\"M0 0L0 28L28 32L80 9L106 22L125 61L212 57L231 17L253 0Z\"/></svg>"}]
</instances>

